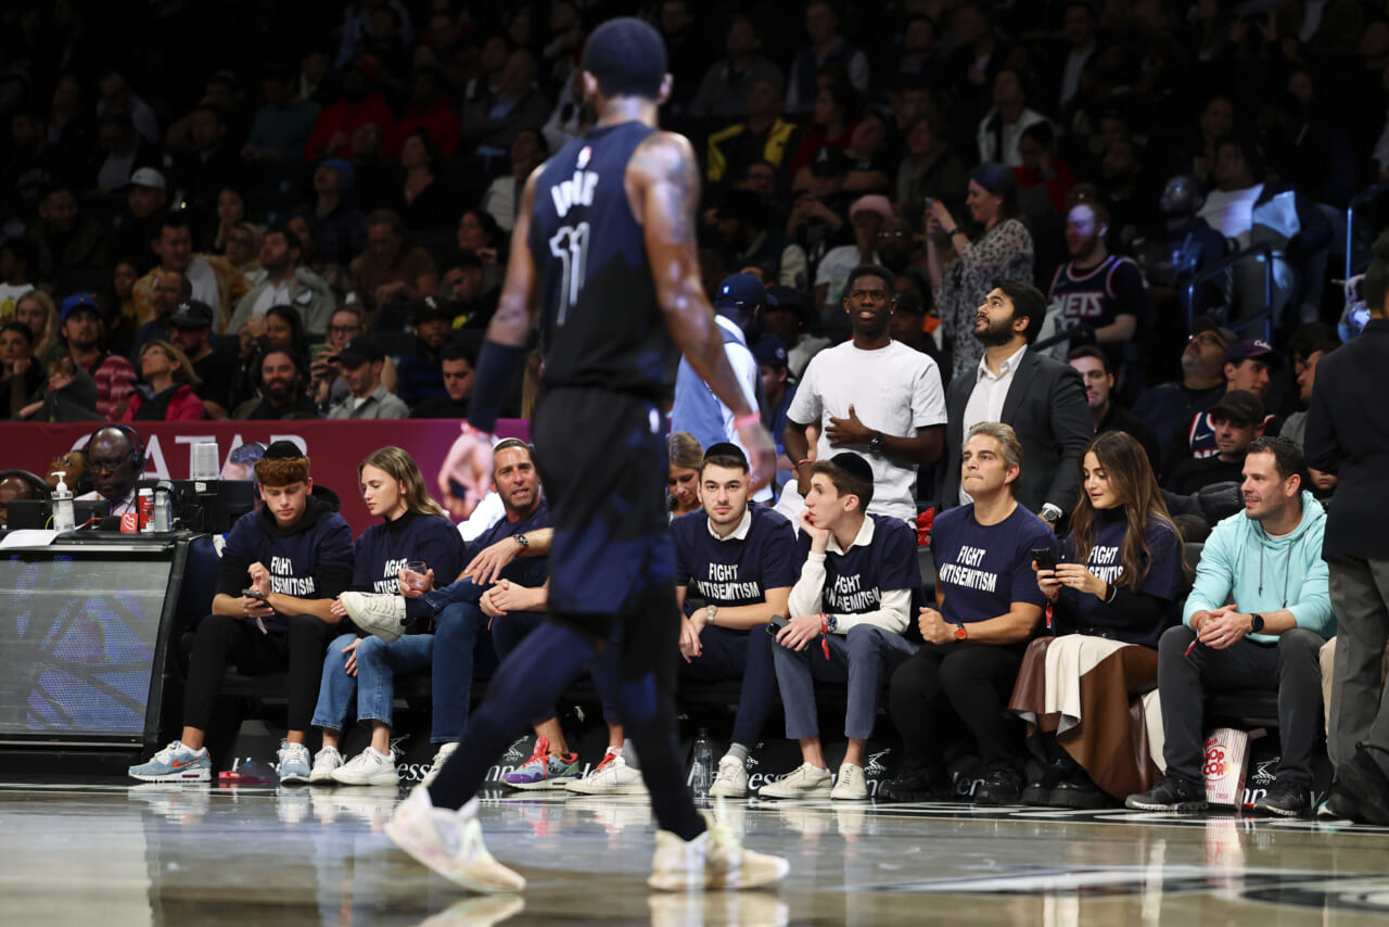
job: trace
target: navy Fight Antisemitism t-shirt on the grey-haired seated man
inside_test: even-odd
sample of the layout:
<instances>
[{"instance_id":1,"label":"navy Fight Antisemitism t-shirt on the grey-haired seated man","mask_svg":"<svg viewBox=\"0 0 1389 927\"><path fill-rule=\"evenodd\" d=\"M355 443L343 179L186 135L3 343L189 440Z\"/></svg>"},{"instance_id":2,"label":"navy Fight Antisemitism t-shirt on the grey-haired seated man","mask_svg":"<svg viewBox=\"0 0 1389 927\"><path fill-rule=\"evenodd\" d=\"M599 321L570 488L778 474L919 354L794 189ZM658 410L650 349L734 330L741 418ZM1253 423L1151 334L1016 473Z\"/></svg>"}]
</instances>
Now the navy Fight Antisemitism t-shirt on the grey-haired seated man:
<instances>
[{"instance_id":1,"label":"navy Fight Antisemitism t-shirt on the grey-haired seated man","mask_svg":"<svg viewBox=\"0 0 1389 927\"><path fill-rule=\"evenodd\" d=\"M1032 548L1057 549L1045 521L1018 506L999 524L982 525L974 506L947 509L931 525L931 553L945 588L942 616L950 624L986 621L1014 602L1046 603L1032 573Z\"/></svg>"}]
</instances>

